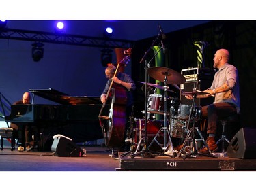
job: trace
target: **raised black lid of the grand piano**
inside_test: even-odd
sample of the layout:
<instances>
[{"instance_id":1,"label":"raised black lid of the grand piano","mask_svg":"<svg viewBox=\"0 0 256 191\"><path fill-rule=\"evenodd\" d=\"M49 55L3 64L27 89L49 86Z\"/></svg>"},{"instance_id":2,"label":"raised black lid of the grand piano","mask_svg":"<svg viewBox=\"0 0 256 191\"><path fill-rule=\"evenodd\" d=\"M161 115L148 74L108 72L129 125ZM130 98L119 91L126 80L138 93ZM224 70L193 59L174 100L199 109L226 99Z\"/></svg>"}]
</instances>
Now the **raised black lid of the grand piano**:
<instances>
[{"instance_id":1,"label":"raised black lid of the grand piano","mask_svg":"<svg viewBox=\"0 0 256 191\"><path fill-rule=\"evenodd\" d=\"M70 96L53 88L29 89L29 92L44 99L48 99L50 101L64 105L102 104L100 97Z\"/></svg>"}]
</instances>

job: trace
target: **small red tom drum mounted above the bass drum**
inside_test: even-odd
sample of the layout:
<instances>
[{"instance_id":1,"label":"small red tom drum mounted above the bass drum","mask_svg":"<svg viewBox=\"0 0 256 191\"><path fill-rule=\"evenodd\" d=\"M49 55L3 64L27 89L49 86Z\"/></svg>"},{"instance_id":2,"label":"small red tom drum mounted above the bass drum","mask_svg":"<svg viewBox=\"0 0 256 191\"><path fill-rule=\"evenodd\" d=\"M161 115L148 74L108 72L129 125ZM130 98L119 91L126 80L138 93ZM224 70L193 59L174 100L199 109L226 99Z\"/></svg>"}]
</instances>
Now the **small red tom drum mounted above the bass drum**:
<instances>
[{"instance_id":1,"label":"small red tom drum mounted above the bass drum","mask_svg":"<svg viewBox=\"0 0 256 191\"><path fill-rule=\"evenodd\" d=\"M163 97L160 94L150 94L149 95L149 108L148 111L151 112L163 112L164 109Z\"/></svg>"}]
</instances>

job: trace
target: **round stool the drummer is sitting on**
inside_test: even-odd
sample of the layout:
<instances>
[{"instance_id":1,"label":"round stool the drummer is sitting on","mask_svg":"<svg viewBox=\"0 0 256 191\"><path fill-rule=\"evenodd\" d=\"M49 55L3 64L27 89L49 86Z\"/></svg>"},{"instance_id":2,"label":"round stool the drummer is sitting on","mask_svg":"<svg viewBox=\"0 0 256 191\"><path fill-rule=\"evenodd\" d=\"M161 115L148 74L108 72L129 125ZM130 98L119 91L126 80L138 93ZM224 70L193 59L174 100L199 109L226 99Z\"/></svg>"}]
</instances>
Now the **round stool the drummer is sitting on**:
<instances>
[{"instance_id":1,"label":"round stool the drummer is sitting on","mask_svg":"<svg viewBox=\"0 0 256 191\"><path fill-rule=\"evenodd\" d=\"M221 122L221 125L223 126L223 130L221 132L221 138L218 139L218 141L216 142L216 144L220 143L222 141L221 144L221 152L224 156L225 154L225 147L224 147L224 143L225 141L227 143L230 143L229 139L227 139L227 136L225 135L225 126L229 123L229 122L239 122L240 124L240 114L233 114L231 116L227 116L227 117L223 117L220 118L219 121Z\"/></svg>"}]
</instances>

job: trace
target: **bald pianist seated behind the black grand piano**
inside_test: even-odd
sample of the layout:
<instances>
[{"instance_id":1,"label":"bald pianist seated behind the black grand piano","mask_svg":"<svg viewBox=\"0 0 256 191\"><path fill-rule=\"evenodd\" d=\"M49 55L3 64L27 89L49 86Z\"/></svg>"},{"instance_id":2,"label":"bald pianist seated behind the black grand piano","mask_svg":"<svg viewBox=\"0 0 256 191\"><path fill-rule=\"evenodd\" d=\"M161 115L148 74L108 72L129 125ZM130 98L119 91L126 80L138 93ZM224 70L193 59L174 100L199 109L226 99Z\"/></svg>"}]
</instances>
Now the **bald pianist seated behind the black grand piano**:
<instances>
[{"instance_id":1,"label":"bald pianist seated behind the black grand piano","mask_svg":"<svg viewBox=\"0 0 256 191\"><path fill-rule=\"evenodd\" d=\"M31 96L29 92L25 92L23 94L23 97L21 100L16 101L13 103L13 105L18 105L18 104L31 104L30 103ZM25 133L25 150L31 151L33 148L37 145L37 128L35 126L27 125L27 124L14 124L11 123L10 126L18 131L21 130L21 133ZM24 131L23 131L24 130ZM24 146L24 140L23 137L24 135L21 135L22 137L22 145Z\"/></svg>"}]
</instances>

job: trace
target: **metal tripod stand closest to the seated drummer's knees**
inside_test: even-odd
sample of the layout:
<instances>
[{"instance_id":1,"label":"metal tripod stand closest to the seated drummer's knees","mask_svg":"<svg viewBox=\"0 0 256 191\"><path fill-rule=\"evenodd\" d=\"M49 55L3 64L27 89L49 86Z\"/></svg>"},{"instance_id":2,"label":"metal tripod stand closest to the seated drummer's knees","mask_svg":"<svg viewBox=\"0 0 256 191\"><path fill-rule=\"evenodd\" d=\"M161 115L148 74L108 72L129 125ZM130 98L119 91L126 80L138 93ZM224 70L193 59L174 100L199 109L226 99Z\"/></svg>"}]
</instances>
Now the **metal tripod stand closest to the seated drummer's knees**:
<instances>
[{"instance_id":1,"label":"metal tripod stand closest to the seated drummer's knees","mask_svg":"<svg viewBox=\"0 0 256 191\"><path fill-rule=\"evenodd\" d=\"M198 84L198 82L197 82L197 84ZM184 151L186 143L188 143L188 140L190 140L191 141L191 145L192 145L191 146L191 152L189 154L186 154L185 156L183 156L184 159L189 157L189 156L196 157L197 155L210 156L210 157L216 158L215 156L212 155L212 152L210 151L210 149L208 147L208 144L206 143L205 139L203 139L203 136L201 135L201 132L199 131L199 128L195 127L195 118L196 118L195 99L196 98L197 98L197 90L195 88L195 93L193 94L193 101L192 101L192 105L191 105L191 108L190 108L190 113L189 113L189 116L188 116L188 124L187 124L187 128L186 129L188 130L188 128L189 128L192 114L194 114L194 116L193 116L193 126L188 130L188 134L186 135L185 141L184 141L184 143L182 145L182 149L177 154L177 156L181 156L182 152ZM203 153L197 152L197 149L195 147L195 135L196 135L196 132L201 137L201 140L203 140L203 144L205 145L205 147L207 147L209 154L203 154Z\"/></svg>"}]
</instances>

